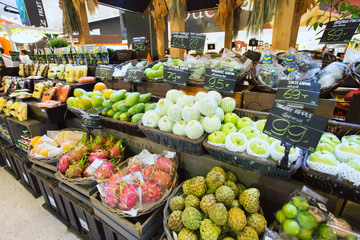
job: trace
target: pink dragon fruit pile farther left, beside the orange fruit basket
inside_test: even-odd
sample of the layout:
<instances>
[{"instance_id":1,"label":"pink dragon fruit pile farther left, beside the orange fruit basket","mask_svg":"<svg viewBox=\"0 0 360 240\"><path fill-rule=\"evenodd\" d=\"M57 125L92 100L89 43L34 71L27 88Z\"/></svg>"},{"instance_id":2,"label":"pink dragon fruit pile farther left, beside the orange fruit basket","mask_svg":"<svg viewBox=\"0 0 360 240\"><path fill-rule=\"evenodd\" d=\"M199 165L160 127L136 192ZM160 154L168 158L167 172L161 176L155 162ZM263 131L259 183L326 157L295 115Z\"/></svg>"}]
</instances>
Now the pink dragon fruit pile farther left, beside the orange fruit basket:
<instances>
[{"instance_id":1,"label":"pink dragon fruit pile farther left, beside the orange fruit basket","mask_svg":"<svg viewBox=\"0 0 360 240\"><path fill-rule=\"evenodd\" d=\"M122 139L117 141L113 136L83 138L59 159L58 168L69 179L96 177L104 181L113 173L114 163L122 158L124 149Z\"/></svg>"}]
</instances>

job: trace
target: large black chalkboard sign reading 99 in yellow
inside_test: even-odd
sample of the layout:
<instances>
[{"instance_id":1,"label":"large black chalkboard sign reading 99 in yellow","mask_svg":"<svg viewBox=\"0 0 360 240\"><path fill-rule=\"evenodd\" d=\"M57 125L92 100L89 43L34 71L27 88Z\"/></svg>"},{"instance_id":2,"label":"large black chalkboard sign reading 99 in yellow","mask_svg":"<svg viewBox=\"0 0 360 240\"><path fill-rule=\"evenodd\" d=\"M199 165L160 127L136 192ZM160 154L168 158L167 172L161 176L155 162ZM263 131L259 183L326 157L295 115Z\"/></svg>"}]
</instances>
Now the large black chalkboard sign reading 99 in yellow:
<instances>
[{"instance_id":1,"label":"large black chalkboard sign reading 99 in yellow","mask_svg":"<svg viewBox=\"0 0 360 240\"><path fill-rule=\"evenodd\" d=\"M315 151L328 119L275 102L266 120L264 133L311 152Z\"/></svg>"}]
</instances>

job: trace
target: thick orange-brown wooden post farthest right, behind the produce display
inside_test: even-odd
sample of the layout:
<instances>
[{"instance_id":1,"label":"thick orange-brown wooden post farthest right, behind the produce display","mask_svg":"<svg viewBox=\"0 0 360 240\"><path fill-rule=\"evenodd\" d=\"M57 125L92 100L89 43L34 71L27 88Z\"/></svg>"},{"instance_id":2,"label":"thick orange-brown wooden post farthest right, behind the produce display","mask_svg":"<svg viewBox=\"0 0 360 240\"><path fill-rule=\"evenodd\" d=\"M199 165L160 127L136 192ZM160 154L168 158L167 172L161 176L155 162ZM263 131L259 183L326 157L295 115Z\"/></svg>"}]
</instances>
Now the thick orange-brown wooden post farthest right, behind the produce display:
<instances>
[{"instance_id":1,"label":"thick orange-brown wooden post farthest right, behind the produce display","mask_svg":"<svg viewBox=\"0 0 360 240\"><path fill-rule=\"evenodd\" d=\"M299 0L277 2L272 37L273 49L287 50L290 46L295 47L301 17L296 7L298 2Z\"/></svg>"}]
</instances>

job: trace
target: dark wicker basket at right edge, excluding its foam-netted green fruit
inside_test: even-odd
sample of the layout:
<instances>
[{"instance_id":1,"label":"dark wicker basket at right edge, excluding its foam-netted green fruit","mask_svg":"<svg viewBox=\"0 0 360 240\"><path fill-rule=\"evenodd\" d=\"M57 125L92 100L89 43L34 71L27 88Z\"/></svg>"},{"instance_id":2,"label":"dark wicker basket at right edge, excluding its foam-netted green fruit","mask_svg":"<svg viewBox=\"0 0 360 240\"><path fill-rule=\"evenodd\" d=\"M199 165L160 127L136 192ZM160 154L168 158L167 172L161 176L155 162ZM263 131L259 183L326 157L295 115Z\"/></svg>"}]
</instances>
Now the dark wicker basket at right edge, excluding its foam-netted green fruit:
<instances>
[{"instance_id":1,"label":"dark wicker basket at right edge, excluding its foam-netted green fruit","mask_svg":"<svg viewBox=\"0 0 360 240\"><path fill-rule=\"evenodd\" d=\"M345 135L359 135L360 125L329 121L326 132L331 132L341 139ZM305 155L301 166L306 185L360 203L360 187L356 187L351 182L340 177L309 168L307 165L309 156L309 153Z\"/></svg>"}]
</instances>

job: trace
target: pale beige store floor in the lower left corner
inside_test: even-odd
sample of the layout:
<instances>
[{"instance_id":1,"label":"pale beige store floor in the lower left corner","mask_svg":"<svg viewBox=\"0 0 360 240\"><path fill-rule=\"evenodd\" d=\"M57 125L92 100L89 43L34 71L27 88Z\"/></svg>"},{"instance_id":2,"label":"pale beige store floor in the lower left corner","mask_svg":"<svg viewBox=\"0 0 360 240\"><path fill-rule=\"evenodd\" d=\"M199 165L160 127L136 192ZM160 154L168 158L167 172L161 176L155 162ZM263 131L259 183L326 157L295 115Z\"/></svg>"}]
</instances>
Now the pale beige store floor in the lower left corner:
<instances>
[{"instance_id":1,"label":"pale beige store floor in the lower left corner","mask_svg":"<svg viewBox=\"0 0 360 240\"><path fill-rule=\"evenodd\" d=\"M42 207L43 203L42 196L35 199L4 168L0 168L0 239L78 239Z\"/></svg>"}]
</instances>

